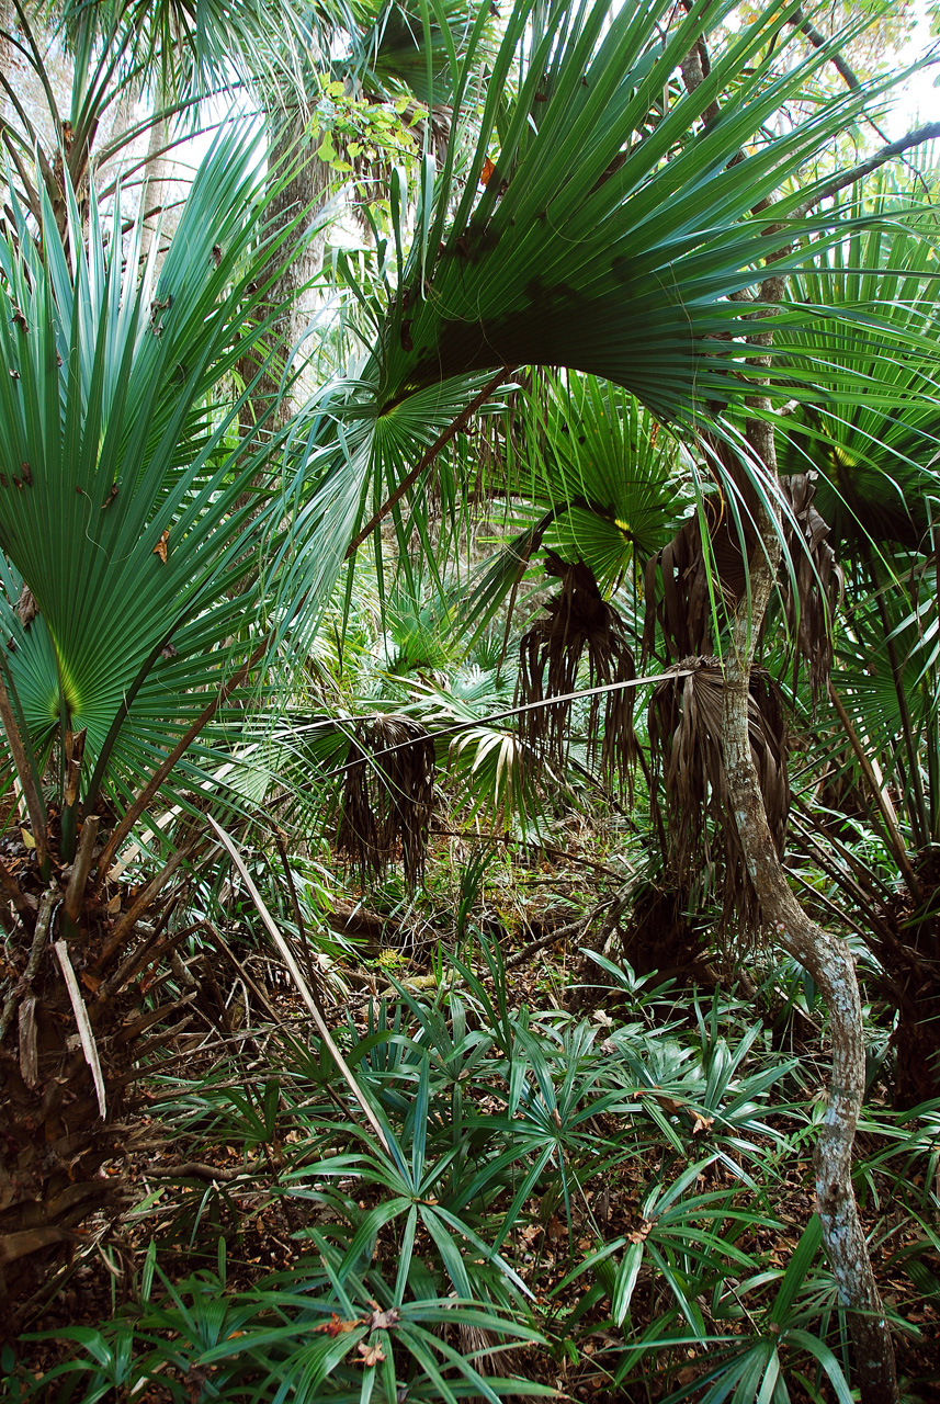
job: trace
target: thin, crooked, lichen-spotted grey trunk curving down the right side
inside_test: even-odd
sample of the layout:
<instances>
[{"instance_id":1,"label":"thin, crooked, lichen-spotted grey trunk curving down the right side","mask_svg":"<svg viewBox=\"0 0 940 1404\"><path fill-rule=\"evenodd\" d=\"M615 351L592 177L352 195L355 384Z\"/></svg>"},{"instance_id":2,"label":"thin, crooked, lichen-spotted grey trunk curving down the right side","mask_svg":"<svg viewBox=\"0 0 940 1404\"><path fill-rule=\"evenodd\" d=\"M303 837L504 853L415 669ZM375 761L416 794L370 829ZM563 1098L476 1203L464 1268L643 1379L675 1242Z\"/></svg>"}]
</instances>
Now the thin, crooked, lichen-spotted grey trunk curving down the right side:
<instances>
[{"instance_id":1,"label":"thin, crooked, lichen-spotted grey trunk curving down the right side","mask_svg":"<svg viewBox=\"0 0 940 1404\"><path fill-rule=\"evenodd\" d=\"M765 400L760 409L767 411L769 402ZM752 420L748 438L776 483L772 424ZM759 508L762 539L751 559L749 608L742 602L738 609L732 647L725 658L723 747L728 800L763 927L812 976L829 1011L832 1080L814 1161L817 1209L839 1296L850 1313L861 1404L894 1404L898 1400L894 1346L852 1186L852 1147L864 1092L864 1038L854 963L846 941L811 921L790 890L770 837L748 733L751 664L776 581L781 549L779 526L779 521L772 521Z\"/></svg>"}]
</instances>

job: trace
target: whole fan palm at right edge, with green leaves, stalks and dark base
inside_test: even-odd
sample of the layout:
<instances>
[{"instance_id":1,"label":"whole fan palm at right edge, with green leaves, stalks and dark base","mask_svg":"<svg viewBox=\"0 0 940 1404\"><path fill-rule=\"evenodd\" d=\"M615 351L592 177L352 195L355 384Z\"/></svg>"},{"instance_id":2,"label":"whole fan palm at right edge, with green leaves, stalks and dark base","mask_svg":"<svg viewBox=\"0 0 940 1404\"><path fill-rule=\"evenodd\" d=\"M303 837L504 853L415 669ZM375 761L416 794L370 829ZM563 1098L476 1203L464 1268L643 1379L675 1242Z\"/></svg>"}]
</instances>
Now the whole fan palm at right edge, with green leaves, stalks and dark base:
<instances>
[{"instance_id":1,"label":"whole fan palm at right edge, with green leaves, stalks and dark base","mask_svg":"<svg viewBox=\"0 0 940 1404\"><path fill-rule=\"evenodd\" d=\"M875 188L881 208L891 187ZM849 212L856 212L857 205ZM825 355L836 375L864 376L846 409L836 383L780 423L781 462L811 466L819 511L847 580L835 636L828 705L817 709L808 774L831 776L842 809L822 820L831 848L801 827L875 953L881 994L897 1011L895 1097L915 1105L937 1090L936 842L936 501L940 417L933 361L919 340L936 326L930 216L913 227L854 232L794 279L794 302L824 296L845 309L835 326L783 333L795 357ZM878 324L867 320L875 296ZM819 726L819 722L825 724ZM856 826L881 837L894 870L859 863ZM795 835L794 835L795 840ZM887 880L887 886L885 886Z\"/></svg>"}]
</instances>

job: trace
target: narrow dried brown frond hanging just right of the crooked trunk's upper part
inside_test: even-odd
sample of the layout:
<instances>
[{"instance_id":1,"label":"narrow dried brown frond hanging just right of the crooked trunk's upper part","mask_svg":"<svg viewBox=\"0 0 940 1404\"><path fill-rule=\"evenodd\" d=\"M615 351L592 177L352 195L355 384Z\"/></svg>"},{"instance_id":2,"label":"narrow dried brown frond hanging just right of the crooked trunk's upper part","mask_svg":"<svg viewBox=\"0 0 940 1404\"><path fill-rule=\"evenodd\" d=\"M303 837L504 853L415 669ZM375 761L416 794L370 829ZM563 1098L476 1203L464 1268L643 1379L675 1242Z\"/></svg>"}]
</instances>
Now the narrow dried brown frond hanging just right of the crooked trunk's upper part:
<instances>
[{"instance_id":1,"label":"narrow dried brown frond hanging just right of the crooked trunk's upper part","mask_svg":"<svg viewBox=\"0 0 940 1404\"><path fill-rule=\"evenodd\" d=\"M787 625L795 629L794 687L800 657L810 670L814 701L825 689L832 667L832 619L842 598L843 574L828 542L829 525L814 505L819 475L781 477L780 487L795 518L787 522L787 550L793 574L783 577ZM794 588L795 585L795 588Z\"/></svg>"}]
</instances>

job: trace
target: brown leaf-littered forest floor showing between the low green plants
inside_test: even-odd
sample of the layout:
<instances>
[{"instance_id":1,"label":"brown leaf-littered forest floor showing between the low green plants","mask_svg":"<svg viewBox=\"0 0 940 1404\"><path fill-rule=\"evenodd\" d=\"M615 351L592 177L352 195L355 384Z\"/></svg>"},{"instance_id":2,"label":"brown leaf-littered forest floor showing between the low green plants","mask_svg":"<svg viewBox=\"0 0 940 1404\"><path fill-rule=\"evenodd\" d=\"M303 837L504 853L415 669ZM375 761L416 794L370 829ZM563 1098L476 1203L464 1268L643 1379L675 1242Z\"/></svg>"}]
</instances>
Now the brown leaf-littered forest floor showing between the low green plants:
<instances>
[{"instance_id":1,"label":"brown leaf-littered forest floor showing between the low green plants","mask_svg":"<svg viewBox=\"0 0 940 1404\"><path fill-rule=\"evenodd\" d=\"M603 876L603 865L593 866ZM516 924L515 931L506 931L506 925L501 925L502 960L506 967L505 1005L512 1011L554 1009L560 1018L575 1007L578 1016L588 1021L603 1045L605 1036L616 1032L622 1024L629 1025L631 1018L636 1019L636 1007L630 1005L623 991L612 987L593 990L585 997L581 987L585 974L589 976L591 972L585 970L584 956L575 945L578 934L575 932L574 941L570 935L551 939L553 925L564 929L565 914L572 910L584 911L589 899L596 897L596 875L589 869L591 865L571 876L570 865L565 865L563 875L544 862L530 873L532 892L536 893L530 920L525 928ZM491 901L490 911L492 910ZM358 913L359 925L366 917L368 914ZM345 920L349 921L348 914ZM438 984L435 960L429 952L432 943L424 939L411 953L389 948L384 953L379 951L365 965L351 965L345 972L338 969L335 976L342 977L345 994L327 1008L337 1038L345 1039L348 1045L354 1031L362 1038L375 1033L376 1000L382 998L389 1011L398 1008L403 1015L400 1033L412 1033L408 997L411 1001L434 1001ZM296 1153L302 1148L304 1130L302 1123L292 1125L289 1109L283 1113L283 1097L275 1092L274 1122L265 1123L267 1136L262 1132L254 1140L246 1133L246 1122L251 1129L251 1106L247 1104L241 1104L246 1115L241 1119L233 1115L229 1129L224 1120L216 1118L209 1134L191 1118L187 1122L181 1112L194 1088L210 1088L217 1095L220 1088L230 1087L234 1090L234 1102L229 1104L231 1106L239 1105L240 1080L250 1082L260 1073L271 1075L271 1068L278 1066L279 1046L276 1039L271 1042L274 1024L268 1018L269 1012L285 1028L307 1038L309 1016L297 991L286 981L285 972L268 958L261 960L246 956L244 960L248 970L254 972L257 988L264 990L268 1009L258 1008L253 993L243 986L247 1000L237 1033L213 1040L194 1033L192 1026L182 1022L178 1031L167 1031L161 1054L178 1054L181 1061L177 1071L161 1074L159 1081L143 1090L136 1109L128 1116L126 1125L133 1129L128 1132L121 1154L102 1170L119 1186L115 1203L121 1206L121 1212L86 1224L77 1234L72 1262L58 1272L52 1285L35 1300L25 1323L32 1338L22 1339L15 1351L17 1379L32 1376L39 1380L67 1358L73 1342L63 1339L59 1332L76 1327L94 1328L102 1321L119 1318L122 1313L133 1314L147 1251L153 1252L154 1244L160 1272L170 1282L180 1283L199 1271L215 1272L219 1240L224 1240L226 1293L233 1299L257 1289L271 1273L296 1271L304 1254L309 1254L304 1240L309 1202L285 1192L285 1172L297 1164ZM436 970L441 976L439 965ZM459 981L453 987L459 987ZM700 998L713 998L713 991ZM685 1018L690 1029L694 1028L693 1002L692 990L671 988L669 1008L673 1019L679 1011L676 1022L682 1024ZM793 1032L788 1038L795 1059L815 1063L821 1057L818 1047L793 1043ZM239 1056L233 1060L236 1047ZM825 1059L819 1067L824 1064ZM178 1085L174 1077L178 1077ZM699 1147L706 1147L711 1119L694 1111L689 1118L689 1108L671 1099L668 1091L654 1091L659 1119L665 1119L666 1127L669 1123L679 1127L685 1115L683 1134L690 1157ZM885 1098L887 1090L882 1090L881 1101ZM787 1102L787 1097L781 1102ZM264 1120L261 1101L255 1111ZM487 1111L485 1105L483 1111ZM766 1109L766 1123L774 1127L773 1098ZM588 1158L592 1154L600 1157L600 1147L616 1144L623 1127L616 1113L600 1111L591 1119L591 1132L596 1136L596 1148L585 1144ZM793 1136L786 1106L781 1108L780 1134L784 1139ZM570 1196L567 1206L565 1196L554 1185L547 1189L536 1186L539 1192L533 1192L518 1206L518 1221L505 1240L502 1254L532 1294L530 1320L544 1332L544 1344L509 1349L499 1360L501 1373L539 1382L556 1390L558 1398L584 1404L602 1400L615 1404L654 1404L683 1389L689 1398L703 1397L704 1384L696 1389L696 1382L701 1380L709 1365L710 1346L694 1341L673 1344L659 1353L647 1353L634 1369L626 1367L624 1331L612 1323L607 1294L595 1292L596 1300L589 1300L586 1287L592 1282L591 1273L575 1275L578 1265L589 1261L603 1243L638 1243L650 1233L654 1220L647 1220L643 1213L651 1172L657 1170L655 1165L651 1168L650 1160L658 1155L665 1163L666 1150L665 1141L659 1147L651 1143L644 1155L615 1160L609 1165L600 1165L598 1174L581 1172L579 1192ZM866 1181L863 1216L873 1234L873 1259L885 1303L898 1320L895 1348L905 1397L929 1404L940 1401L937 1200L934 1193L932 1214L912 1213L905 1196L895 1196L898 1184L894 1163L885 1163L884 1172L878 1168L881 1150L877 1132L871 1134L863 1130L859 1155L875 1167ZM930 1171L937 1174L936 1154L925 1158L920 1178ZM721 1158L707 1164L692 1188L703 1195L720 1191L734 1195L742 1189L735 1182L734 1170ZM934 1186L922 1184L920 1188L922 1200L929 1200L929 1191ZM814 1212L811 1144L805 1140L794 1143L793 1153L776 1164L772 1193L773 1220L766 1216L755 1217L752 1226L735 1231L734 1248L752 1261L755 1272L780 1278L793 1261ZM361 1195L359 1210L368 1213L379 1202L382 1186L366 1185L356 1189L356 1195ZM749 1198L749 1192L742 1189L739 1202L746 1205ZM488 1205L488 1210L498 1216L499 1210L509 1207L511 1200L511 1191L506 1189L502 1200ZM317 1223L324 1224L323 1213ZM418 1251L422 1245L427 1247L427 1243L422 1244L419 1230ZM394 1266L397 1254L398 1244L393 1230L380 1230L373 1262L382 1264L384 1259ZM912 1264L916 1271L912 1271ZM746 1275L745 1269L741 1269L741 1275ZM741 1292L745 1292L745 1286L741 1286ZM652 1328L668 1294L662 1278L657 1272L644 1271L630 1309L631 1341L641 1341L644 1332ZM838 1324L831 1316L825 1317L825 1324L838 1353ZM744 1335L749 1327L756 1330L752 1314L742 1303L739 1321L725 1323L724 1330L734 1339L735 1332ZM41 1332L41 1337L35 1332ZM781 1359L786 1365L786 1351L781 1351ZM206 1377L198 1372L191 1379L187 1377L191 1400L212 1397L210 1393L203 1393ZM788 1397L794 1404L838 1398L819 1372L814 1383L805 1369L794 1370L787 1383ZM41 1391L39 1397L52 1404L58 1398L56 1389L49 1383L48 1393ZM18 1397L15 1390L10 1397ZM128 1394L130 1397L133 1404L171 1404L181 1396L150 1379L146 1387ZM737 1394L734 1397L738 1398Z\"/></svg>"}]
</instances>

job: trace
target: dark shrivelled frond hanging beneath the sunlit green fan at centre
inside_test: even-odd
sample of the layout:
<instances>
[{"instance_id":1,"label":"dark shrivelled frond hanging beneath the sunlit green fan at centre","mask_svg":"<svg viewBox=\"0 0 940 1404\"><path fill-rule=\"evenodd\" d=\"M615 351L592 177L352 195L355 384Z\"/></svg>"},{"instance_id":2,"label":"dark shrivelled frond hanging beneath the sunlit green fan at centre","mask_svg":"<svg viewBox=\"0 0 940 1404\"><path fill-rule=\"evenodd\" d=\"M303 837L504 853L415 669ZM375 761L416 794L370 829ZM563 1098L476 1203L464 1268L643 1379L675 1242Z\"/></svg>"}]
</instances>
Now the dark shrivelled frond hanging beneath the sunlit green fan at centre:
<instances>
[{"instance_id":1,"label":"dark shrivelled frond hanging beneath the sunlit green fan at centre","mask_svg":"<svg viewBox=\"0 0 940 1404\"><path fill-rule=\"evenodd\" d=\"M636 677L627 630L617 611L600 594L589 566L568 564L547 553L546 570L558 576L561 590L547 601L543 616L519 643L522 705L563 698L578 687L578 670L588 664L588 687L630 682ZM571 701L523 712L521 727L536 754L564 767L571 734ZM623 688L592 696L588 709L588 760L600 761L607 783L629 783L637 755L633 730L633 691Z\"/></svg>"}]
</instances>

